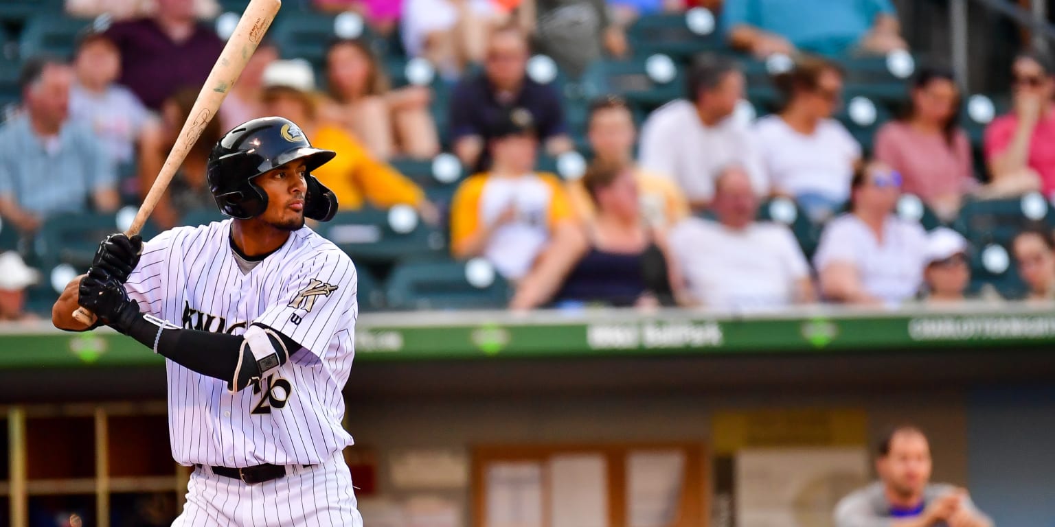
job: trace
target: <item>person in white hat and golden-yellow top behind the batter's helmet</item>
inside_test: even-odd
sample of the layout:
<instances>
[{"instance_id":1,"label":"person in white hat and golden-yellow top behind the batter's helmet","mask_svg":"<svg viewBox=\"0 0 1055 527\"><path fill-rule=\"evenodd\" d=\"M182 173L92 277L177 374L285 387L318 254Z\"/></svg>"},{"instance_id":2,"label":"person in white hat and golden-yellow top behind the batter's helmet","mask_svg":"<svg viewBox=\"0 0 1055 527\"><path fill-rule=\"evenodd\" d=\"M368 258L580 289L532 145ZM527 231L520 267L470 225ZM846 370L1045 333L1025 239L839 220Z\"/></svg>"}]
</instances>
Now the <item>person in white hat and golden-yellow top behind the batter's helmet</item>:
<instances>
[{"instance_id":1,"label":"person in white hat and golden-yellow top behind the batter's helmet","mask_svg":"<svg viewBox=\"0 0 1055 527\"><path fill-rule=\"evenodd\" d=\"M316 113L311 66L300 60L277 60L264 72L264 108L270 115L298 124L318 149L332 150L337 157L312 172L337 194L341 210L364 204L387 209L409 204L429 223L439 213L421 189L388 164L375 159L354 137L340 126L323 122Z\"/></svg>"}]
</instances>

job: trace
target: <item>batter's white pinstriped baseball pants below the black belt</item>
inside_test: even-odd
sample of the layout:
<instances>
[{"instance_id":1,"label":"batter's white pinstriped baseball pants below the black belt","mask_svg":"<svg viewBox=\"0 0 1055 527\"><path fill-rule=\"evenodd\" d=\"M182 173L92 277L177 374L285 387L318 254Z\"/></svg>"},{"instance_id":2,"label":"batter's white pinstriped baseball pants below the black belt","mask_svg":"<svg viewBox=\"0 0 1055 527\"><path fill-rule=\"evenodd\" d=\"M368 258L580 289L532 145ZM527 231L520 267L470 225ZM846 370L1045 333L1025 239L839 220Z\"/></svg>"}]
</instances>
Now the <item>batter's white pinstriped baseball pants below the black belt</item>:
<instances>
[{"instance_id":1,"label":"batter's white pinstriped baseball pants below the black belt","mask_svg":"<svg viewBox=\"0 0 1055 527\"><path fill-rule=\"evenodd\" d=\"M257 485L195 469L172 527L362 527L343 456Z\"/></svg>"}]
</instances>

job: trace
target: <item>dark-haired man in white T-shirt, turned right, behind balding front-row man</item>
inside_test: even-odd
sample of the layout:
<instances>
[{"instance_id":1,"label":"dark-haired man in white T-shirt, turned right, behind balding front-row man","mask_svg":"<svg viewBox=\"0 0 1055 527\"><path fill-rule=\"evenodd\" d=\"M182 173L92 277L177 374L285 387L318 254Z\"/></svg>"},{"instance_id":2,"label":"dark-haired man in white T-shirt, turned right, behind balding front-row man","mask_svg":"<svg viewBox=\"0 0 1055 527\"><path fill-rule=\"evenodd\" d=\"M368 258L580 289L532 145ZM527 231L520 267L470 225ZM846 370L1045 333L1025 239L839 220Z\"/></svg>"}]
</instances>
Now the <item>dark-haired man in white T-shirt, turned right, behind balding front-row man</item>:
<instances>
[{"instance_id":1,"label":"dark-haired man in white T-shirt, turned right, behind balding front-row man","mask_svg":"<svg viewBox=\"0 0 1055 527\"><path fill-rule=\"evenodd\" d=\"M665 104L641 128L641 167L673 177L694 210L710 204L714 180L730 164L747 171L755 194L769 191L750 130L733 117L744 82L735 62L698 56L689 66L689 99Z\"/></svg>"}]
</instances>

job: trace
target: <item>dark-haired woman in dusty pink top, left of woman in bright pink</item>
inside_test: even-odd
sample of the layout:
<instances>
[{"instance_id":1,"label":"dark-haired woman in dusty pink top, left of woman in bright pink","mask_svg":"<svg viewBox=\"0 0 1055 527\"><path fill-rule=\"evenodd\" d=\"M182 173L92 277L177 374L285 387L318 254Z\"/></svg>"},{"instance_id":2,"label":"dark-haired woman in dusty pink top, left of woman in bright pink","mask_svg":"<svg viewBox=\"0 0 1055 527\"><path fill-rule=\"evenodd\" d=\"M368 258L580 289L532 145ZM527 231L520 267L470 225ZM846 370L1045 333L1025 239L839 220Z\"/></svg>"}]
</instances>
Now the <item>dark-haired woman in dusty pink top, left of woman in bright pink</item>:
<instances>
[{"instance_id":1,"label":"dark-haired woman in dusty pink top, left of woman in bright pink","mask_svg":"<svg viewBox=\"0 0 1055 527\"><path fill-rule=\"evenodd\" d=\"M957 125L960 93L953 73L924 70L913 83L912 106L876 136L876 159L901 173L902 191L920 197L935 213L953 218L977 181L971 143Z\"/></svg>"}]
</instances>

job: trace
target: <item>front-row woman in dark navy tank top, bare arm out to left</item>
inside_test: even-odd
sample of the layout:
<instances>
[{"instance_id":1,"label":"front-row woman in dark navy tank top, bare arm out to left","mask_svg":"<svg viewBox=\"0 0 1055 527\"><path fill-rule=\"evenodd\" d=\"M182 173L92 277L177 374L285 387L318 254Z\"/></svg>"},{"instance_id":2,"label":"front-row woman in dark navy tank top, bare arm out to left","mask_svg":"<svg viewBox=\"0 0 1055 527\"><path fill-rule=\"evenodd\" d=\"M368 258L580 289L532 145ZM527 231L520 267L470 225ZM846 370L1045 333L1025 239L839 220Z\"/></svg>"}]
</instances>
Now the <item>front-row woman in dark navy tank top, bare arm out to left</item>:
<instances>
[{"instance_id":1,"label":"front-row woman in dark navy tank top, bare arm out to left","mask_svg":"<svg viewBox=\"0 0 1055 527\"><path fill-rule=\"evenodd\" d=\"M665 233L641 216L637 180L627 167L594 164L583 184L597 215L583 230L554 238L517 288L511 309L586 302L655 307L674 302L680 279Z\"/></svg>"}]
</instances>

